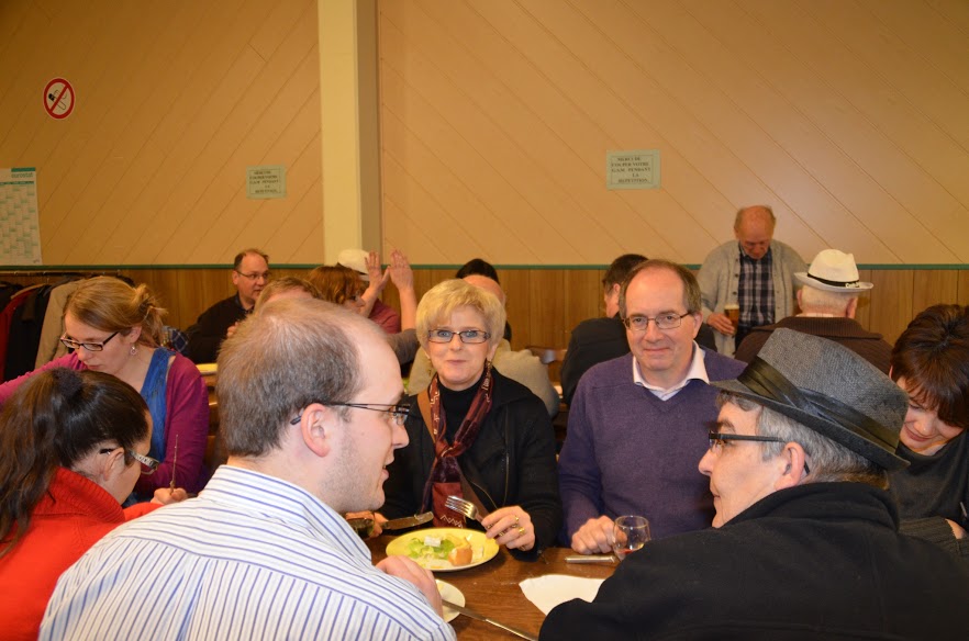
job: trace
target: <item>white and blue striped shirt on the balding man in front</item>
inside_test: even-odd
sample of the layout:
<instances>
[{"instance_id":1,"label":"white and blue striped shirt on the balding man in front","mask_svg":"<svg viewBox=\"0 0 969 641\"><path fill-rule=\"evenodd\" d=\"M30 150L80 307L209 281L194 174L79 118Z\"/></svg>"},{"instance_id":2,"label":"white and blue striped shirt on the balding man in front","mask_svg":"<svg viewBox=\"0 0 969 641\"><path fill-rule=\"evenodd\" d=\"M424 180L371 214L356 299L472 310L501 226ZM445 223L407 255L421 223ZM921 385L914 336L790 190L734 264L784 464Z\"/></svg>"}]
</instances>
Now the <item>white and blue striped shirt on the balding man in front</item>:
<instances>
[{"instance_id":1,"label":"white and blue striped shirt on the balding man in front","mask_svg":"<svg viewBox=\"0 0 969 641\"><path fill-rule=\"evenodd\" d=\"M151 518L149 518L151 517ZM455 639L347 522L280 479L222 465L62 577L41 639Z\"/></svg>"}]
</instances>

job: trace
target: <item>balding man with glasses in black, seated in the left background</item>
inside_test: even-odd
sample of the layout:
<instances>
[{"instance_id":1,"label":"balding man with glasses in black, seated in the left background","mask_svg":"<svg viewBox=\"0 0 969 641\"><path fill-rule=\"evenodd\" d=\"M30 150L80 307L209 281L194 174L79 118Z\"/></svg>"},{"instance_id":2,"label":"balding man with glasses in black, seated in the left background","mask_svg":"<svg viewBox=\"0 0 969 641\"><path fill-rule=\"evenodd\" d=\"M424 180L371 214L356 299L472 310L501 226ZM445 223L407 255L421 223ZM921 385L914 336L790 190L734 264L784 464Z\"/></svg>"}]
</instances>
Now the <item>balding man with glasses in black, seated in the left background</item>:
<instances>
[{"instance_id":1,"label":"balding man with glasses in black, seated in the left background","mask_svg":"<svg viewBox=\"0 0 969 641\"><path fill-rule=\"evenodd\" d=\"M235 256L232 284L236 293L219 301L199 316L189 327L187 355L193 362L215 362L219 346L232 336L238 323L256 306L256 299L269 282L269 257L258 249L244 249Z\"/></svg>"}]
</instances>

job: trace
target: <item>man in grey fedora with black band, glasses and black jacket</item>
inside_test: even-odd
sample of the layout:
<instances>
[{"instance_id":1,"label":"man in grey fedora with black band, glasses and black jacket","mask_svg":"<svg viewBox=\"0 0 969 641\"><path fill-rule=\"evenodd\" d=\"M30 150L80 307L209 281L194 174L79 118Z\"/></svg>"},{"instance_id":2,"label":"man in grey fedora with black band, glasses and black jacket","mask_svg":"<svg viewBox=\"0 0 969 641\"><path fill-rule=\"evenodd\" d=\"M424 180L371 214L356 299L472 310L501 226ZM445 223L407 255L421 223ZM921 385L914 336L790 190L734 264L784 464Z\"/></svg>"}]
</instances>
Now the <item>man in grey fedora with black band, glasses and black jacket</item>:
<instances>
[{"instance_id":1,"label":"man in grey fedora with black band, glasses and black jacket","mask_svg":"<svg viewBox=\"0 0 969 641\"><path fill-rule=\"evenodd\" d=\"M646 546L542 639L969 638L969 573L900 535L886 491L907 397L829 340L778 329L721 389L700 472L713 528ZM645 515L649 516L649 515Z\"/></svg>"}]
</instances>

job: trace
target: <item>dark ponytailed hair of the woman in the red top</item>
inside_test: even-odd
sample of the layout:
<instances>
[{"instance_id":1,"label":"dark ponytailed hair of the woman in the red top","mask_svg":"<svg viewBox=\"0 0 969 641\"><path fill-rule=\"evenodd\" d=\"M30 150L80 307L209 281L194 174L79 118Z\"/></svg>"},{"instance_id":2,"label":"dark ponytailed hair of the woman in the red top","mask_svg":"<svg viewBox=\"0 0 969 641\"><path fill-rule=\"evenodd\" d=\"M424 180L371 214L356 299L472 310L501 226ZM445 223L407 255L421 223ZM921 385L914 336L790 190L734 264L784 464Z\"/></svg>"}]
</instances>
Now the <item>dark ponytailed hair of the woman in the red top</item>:
<instances>
[{"instance_id":1,"label":"dark ponytailed hair of the woman in the red top","mask_svg":"<svg viewBox=\"0 0 969 641\"><path fill-rule=\"evenodd\" d=\"M125 450L148 437L148 406L134 387L103 372L55 368L31 376L0 413L0 556L27 531L57 468L98 447Z\"/></svg>"}]
</instances>

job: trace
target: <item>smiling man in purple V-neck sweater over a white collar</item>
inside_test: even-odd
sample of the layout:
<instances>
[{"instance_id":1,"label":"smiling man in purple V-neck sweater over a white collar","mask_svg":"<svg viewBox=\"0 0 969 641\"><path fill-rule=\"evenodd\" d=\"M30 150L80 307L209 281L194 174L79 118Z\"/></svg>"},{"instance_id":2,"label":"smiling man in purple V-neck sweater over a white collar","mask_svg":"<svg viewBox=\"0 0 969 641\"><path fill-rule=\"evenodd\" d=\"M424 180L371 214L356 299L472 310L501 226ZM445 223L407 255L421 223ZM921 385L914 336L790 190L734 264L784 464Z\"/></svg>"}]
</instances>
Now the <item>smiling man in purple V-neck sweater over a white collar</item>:
<instances>
[{"instance_id":1,"label":"smiling man in purple V-neck sweater over a white collar","mask_svg":"<svg viewBox=\"0 0 969 641\"><path fill-rule=\"evenodd\" d=\"M648 260L620 292L632 353L582 376L559 458L564 540L582 554L612 551L613 519L649 519L654 538L708 527L713 499L697 461L716 421L710 381L744 363L694 342L700 286L688 269Z\"/></svg>"}]
</instances>

